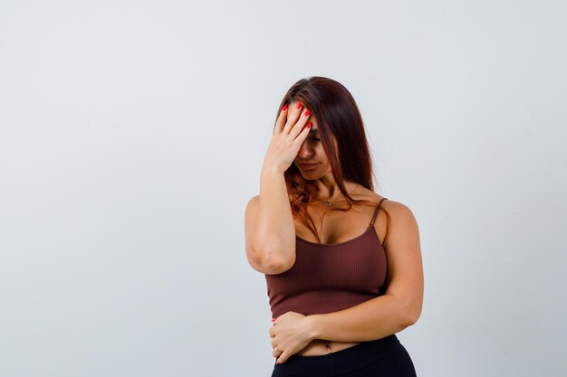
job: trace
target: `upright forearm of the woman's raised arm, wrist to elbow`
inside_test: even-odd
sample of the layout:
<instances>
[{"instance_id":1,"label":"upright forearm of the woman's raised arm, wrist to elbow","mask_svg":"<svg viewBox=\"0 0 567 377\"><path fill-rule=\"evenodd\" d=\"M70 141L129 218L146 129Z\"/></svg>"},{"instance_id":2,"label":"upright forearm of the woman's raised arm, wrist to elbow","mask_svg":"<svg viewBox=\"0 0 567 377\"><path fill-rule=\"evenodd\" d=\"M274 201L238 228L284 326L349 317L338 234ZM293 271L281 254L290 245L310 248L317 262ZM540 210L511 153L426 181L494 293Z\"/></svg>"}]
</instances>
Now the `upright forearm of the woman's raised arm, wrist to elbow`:
<instances>
[{"instance_id":1,"label":"upright forearm of the woman's raised arm, wrist to elbow","mask_svg":"<svg viewBox=\"0 0 567 377\"><path fill-rule=\"evenodd\" d=\"M252 248L260 263L274 269L291 267L295 226L283 172L265 165L260 176L257 224Z\"/></svg>"}]
</instances>

